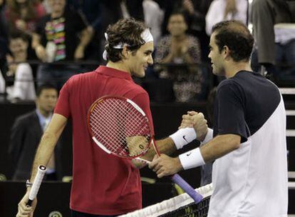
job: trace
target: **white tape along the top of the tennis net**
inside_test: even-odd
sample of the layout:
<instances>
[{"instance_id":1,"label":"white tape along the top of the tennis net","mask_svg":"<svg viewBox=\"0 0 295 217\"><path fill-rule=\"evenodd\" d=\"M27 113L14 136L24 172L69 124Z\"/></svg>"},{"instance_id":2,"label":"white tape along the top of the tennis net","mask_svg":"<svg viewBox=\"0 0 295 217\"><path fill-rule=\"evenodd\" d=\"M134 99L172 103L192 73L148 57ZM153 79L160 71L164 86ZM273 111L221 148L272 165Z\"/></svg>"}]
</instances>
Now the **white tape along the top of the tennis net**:
<instances>
[{"instance_id":1,"label":"white tape along the top of the tennis net","mask_svg":"<svg viewBox=\"0 0 295 217\"><path fill-rule=\"evenodd\" d=\"M202 194L203 198L212 195L212 183L207 186L202 186L200 188L195 189L198 193ZM134 211L132 213L125 214L121 217L156 217L164 215L165 213L172 212L181 208L182 206L187 206L194 201L187 193L182 193L179 196L175 196L174 198L170 198L166 201L162 201L160 203L156 203L152 206L145 207L138 211Z\"/></svg>"}]
</instances>

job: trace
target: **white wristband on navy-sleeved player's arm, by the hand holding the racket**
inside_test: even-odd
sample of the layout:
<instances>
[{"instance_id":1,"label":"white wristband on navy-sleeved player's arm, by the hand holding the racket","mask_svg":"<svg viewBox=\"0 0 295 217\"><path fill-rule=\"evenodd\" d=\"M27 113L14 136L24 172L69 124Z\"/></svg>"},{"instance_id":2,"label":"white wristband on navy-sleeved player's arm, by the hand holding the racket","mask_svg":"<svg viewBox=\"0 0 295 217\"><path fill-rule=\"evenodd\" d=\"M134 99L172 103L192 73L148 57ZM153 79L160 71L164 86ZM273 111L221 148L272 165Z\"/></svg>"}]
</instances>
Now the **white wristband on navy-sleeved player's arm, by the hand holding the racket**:
<instances>
[{"instance_id":1,"label":"white wristband on navy-sleeved player's arm, by the hand holding the racket","mask_svg":"<svg viewBox=\"0 0 295 217\"><path fill-rule=\"evenodd\" d=\"M192 151L182 153L178 157L180 158L180 163L185 170L205 164L200 148L195 148L192 149Z\"/></svg>"}]
</instances>

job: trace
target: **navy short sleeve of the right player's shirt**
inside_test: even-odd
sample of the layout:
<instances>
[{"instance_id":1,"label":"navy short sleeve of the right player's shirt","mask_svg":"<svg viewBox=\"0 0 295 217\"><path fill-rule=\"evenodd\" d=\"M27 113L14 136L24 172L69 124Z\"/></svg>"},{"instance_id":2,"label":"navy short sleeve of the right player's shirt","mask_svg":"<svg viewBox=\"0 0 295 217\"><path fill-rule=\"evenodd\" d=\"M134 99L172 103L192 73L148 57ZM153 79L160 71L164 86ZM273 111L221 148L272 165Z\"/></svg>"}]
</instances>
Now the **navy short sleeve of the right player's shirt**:
<instances>
[{"instance_id":1,"label":"navy short sleeve of the right player's shirt","mask_svg":"<svg viewBox=\"0 0 295 217\"><path fill-rule=\"evenodd\" d=\"M227 81L217 89L214 104L214 136L237 134L241 142L247 141L247 126L244 118L244 97L234 81Z\"/></svg>"}]
</instances>

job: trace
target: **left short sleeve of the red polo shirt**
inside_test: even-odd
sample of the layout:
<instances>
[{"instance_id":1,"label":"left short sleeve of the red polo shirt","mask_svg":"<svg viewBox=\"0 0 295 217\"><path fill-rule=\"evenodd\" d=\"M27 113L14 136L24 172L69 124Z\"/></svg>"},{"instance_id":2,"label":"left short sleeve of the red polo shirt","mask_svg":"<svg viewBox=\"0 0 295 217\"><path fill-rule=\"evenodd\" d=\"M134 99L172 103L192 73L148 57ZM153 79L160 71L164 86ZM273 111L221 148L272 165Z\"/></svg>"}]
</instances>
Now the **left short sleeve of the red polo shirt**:
<instances>
[{"instance_id":1,"label":"left short sleeve of the red polo shirt","mask_svg":"<svg viewBox=\"0 0 295 217\"><path fill-rule=\"evenodd\" d=\"M63 88L59 92L58 101L56 103L56 108L54 109L54 113L61 114L62 116L65 116L66 118L69 118L71 116L71 109L70 109L70 82L71 79L69 79L66 84L63 85Z\"/></svg>"}]
</instances>

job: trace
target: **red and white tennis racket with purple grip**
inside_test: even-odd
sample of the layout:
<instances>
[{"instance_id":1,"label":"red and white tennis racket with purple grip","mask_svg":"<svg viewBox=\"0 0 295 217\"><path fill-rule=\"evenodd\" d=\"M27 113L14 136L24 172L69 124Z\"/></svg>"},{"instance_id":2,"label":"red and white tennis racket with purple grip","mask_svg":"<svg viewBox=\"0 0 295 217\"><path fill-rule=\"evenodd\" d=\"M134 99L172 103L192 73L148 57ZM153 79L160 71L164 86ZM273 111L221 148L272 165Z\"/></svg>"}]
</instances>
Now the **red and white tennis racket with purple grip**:
<instances>
[{"instance_id":1,"label":"red and white tennis racket with purple grip","mask_svg":"<svg viewBox=\"0 0 295 217\"><path fill-rule=\"evenodd\" d=\"M160 156L148 117L130 99L121 96L101 97L90 106L87 123L93 141L106 153L121 158L139 158L152 145ZM202 196L178 174L171 178L195 203L202 201Z\"/></svg>"}]
</instances>

